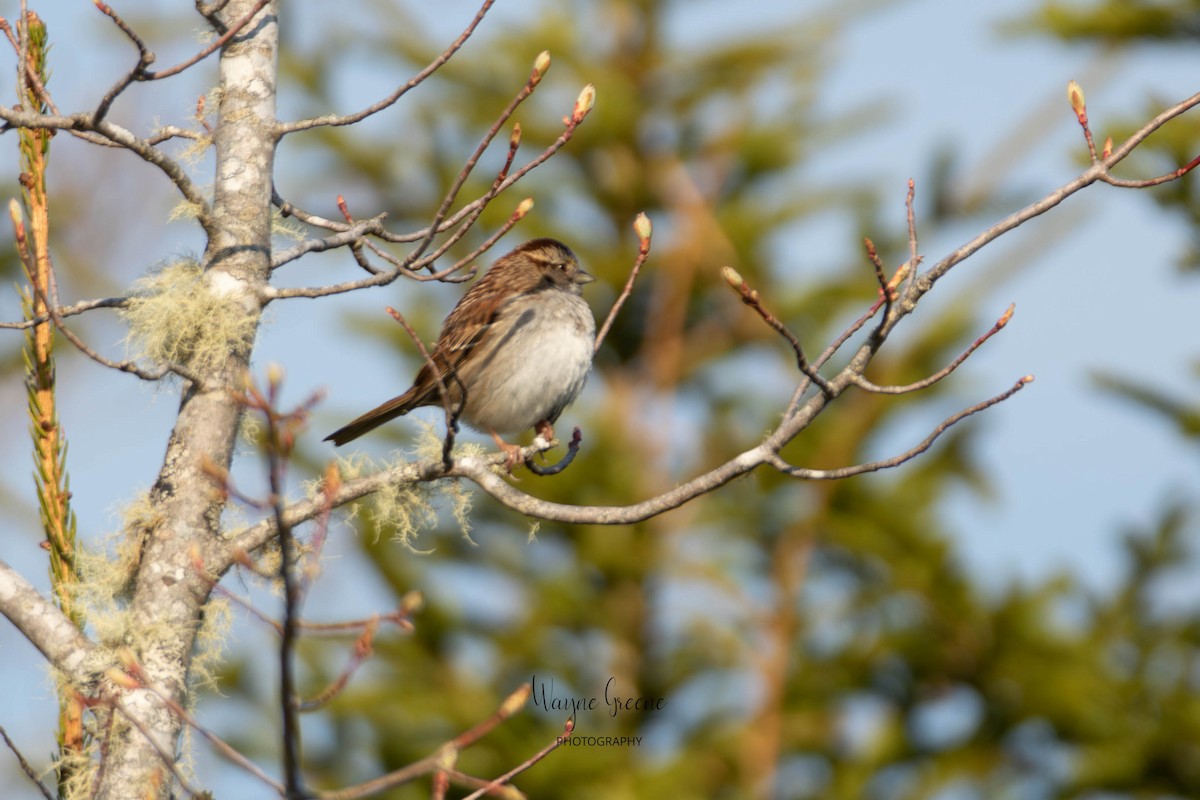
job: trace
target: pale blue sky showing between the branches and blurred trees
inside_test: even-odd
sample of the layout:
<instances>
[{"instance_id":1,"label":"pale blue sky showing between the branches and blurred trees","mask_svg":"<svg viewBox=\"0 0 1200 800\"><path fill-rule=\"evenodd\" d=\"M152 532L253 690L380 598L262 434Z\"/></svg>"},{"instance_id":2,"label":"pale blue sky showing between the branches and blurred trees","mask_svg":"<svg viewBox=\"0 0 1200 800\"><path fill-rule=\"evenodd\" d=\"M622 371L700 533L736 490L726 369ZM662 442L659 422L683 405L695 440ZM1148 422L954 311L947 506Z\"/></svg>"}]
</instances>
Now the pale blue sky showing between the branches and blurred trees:
<instances>
[{"instance_id":1,"label":"pale blue sky showing between the branches and blurred trees","mask_svg":"<svg viewBox=\"0 0 1200 800\"><path fill-rule=\"evenodd\" d=\"M66 5L58 4L47 17L56 42L53 85L60 104L72 109L103 92L118 74L112 54L127 56L127 48L107 30L103 18L92 13L90 4L71 10ZM304 5L295 4L296 13L307 13ZM734 4L724 2L682 5L679 35L704 36L739 25L770 24L790 10L817 7L767 0L736 5L736 11L731 10ZM1200 89L1194 82L1196 55L1184 48L1133 50L1114 62L1087 47L1067 49L1044 40L996 34L998 20L1019 17L1033 5L1026 0L919 0L864 12L863 19L836 40L822 103L833 114L878 98L888 122L850 146L832 149L808 178L830 182L846 174L870 176L896 198L899 221L905 181L924 173L937 148L950 145L962 156L966 186L996 184L1025 203L1066 182L1080 168L1084 144L1067 106L1067 80L1084 83L1093 128L1102 139L1108 121L1128 119L1148 97L1174 101ZM6 2L2 13L12 18L14 7ZM439 7L455 14L448 30L461 26L474 8L461 1ZM170 62L173 55L162 53L161 62ZM5 74L11 62L11 58L0 59ZM76 76L82 76L79 85L72 84ZM180 95L170 91L175 90L150 88L146 95L152 100L119 110L149 120L155 103L161 102L180 112ZM602 92L599 102L605 102ZM1045 113L1034 114L1039 109ZM12 138L0 139L4 142L14 144ZM72 163L70 155L62 161ZM120 184L106 184L104 190L113 197L127 191L154 197L161 193L164 216L174 204L162 181L145 169L131 168ZM88 210L95 216L89 224L119 235L121 227L114 216L119 204L104 205ZM997 210L995 216L1015 207L1018 204ZM172 230L184 233L185 228L175 224ZM923 239L926 264L976 233L978 225L964 225ZM949 301L960 291L984 290L979 276L990 271L1008 267L1016 273L986 287L984 307L998 315L1015 302L1016 314L1009 327L953 379L964 404L1007 387L1022 374L1037 375L1020 396L970 422L983 428L977 437L979 457L995 483L995 497L989 501L964 493L944 504L959 552L989 585L1000 588L1012 579L1070 571L1103 589L1118 575L1118 528L1150 523L1172 493L1200 480L1194 453L1180 445L1171 429L1130 413L1090 381L1093 371L1105 369L1194 393L1189 375L1194 374L1196 337L1189 319L1200 285L1175 266L1183 236L1182 225L1162 215L1150 197L1096 187L960 266L940 285L943 299L931 302ZM844 241L841 231L832 227L806 225L781 242L780 258L785 263L793 259L787 269L803 279L810 264L836 260ZM122 241L122 263L97 264L96 269L136 276L158 259L199 246L194 236L185 234L157 243L148 257L143 242ZM804 263L796 253L804 254ZM313 259L304 269L314 277L328 264ZM11 296L0 299L0 312L4 319L19 315ZM258 362L286 363L296 396L323 386L328 377L322 365L346 357L320 333L340 330L337 313L340 309L322 303L281 305L272 311ZM980 332L990 323L991 318L980 319ZM110 353L120 351L119 326L106 323L92 332ZM176 397L169 390L137 385L131 378L107 375L78 360L65 361L62 371L95 387L86 396L67 397L62 410L82 527L90 534L113 530L119 527L114 518L119 505L154 480ZM402 389L395 385L404 379L400 372L398 366L380 369L372 397ZM28 497L23 396L20 386L0 387L0 440L8 445L0 480L6 491ZM362 403L335 387L329 404L347 409ZM953 410L936 405L916 411L911 426L876 443L878 455L910 446ZM34 516L7 510L0 513L6 530L0 558L44 587ZM32 742L29 752L41 756L49 751L49 728L37 717L52 708L53 694L49 680L34 664L31 648L0 624L0 680L7 687L0 724L25 734L25 741ZM8 768L6 758L0 757L0 772Z\"/></svg>"}]
</instances>

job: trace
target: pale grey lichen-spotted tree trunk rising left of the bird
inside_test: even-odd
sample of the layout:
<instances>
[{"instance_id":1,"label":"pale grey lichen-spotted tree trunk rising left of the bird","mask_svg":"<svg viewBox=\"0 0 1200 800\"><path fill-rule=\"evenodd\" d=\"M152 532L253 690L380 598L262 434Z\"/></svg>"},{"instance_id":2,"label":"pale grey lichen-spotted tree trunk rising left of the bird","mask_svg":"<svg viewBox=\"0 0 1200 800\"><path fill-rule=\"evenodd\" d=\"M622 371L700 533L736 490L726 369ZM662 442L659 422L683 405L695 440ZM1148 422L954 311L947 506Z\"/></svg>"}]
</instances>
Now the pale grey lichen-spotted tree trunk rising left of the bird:
<instances>
[{"instance_id":1,"label":"pale grey lichen-spotted tree trunk rising left of the bird","mask_svg":"<svg viewBox=\"0 0 1200 800\"><path fill-rule=\"evenodd\" d=\"M222 16L241 19L253 0L232 0ZM259 289L270 277L271 169L275 154L275 84L278 48L276 4L221 50L220 107L215 130L214 230L204 253L208 287L240 303L256 325ZM211 589L197 569L223 561L220 521L224 501L212 491L205 462L228 467L242 409L228 391L250 363L252 337L232 343L229 357L187 385L150 492L151 524L132 599L130 642L149 681L186 705L187 673ZM143 636L144 634L144 636ZM101 800L167 798L172 786L162 752L175 753L182 721L149 691L122 697L151 742L127 720L113 722L96 796Z\"/></svg>"}]
</instances>

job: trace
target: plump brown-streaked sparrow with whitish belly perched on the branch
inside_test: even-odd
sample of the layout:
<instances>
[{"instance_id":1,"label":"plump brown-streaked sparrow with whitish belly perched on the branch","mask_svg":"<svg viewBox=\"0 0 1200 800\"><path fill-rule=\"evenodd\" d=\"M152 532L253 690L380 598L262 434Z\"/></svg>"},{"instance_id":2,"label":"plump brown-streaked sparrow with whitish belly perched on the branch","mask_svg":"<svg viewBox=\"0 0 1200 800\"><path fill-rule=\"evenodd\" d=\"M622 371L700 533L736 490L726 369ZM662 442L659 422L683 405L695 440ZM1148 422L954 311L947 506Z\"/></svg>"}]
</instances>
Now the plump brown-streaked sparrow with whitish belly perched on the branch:
<instances>
[{"instance_id":1,"label":"plump brown-streaked sparrow with whitish belly perched on the branch","mask_svg":"<svg viewBox=\"0 0 1200 800\"><path fill-rule=\"evenodd\" d=\"M499 258L442 324L430 354L451 409L491 433L547 428L583 390L592 367L595 319L581 296L594 278L571 249L534 239ZM442 405L428 363L412 389L338 428L326 441L343 445L422 405Z\"/></svg>"}]
</instances>

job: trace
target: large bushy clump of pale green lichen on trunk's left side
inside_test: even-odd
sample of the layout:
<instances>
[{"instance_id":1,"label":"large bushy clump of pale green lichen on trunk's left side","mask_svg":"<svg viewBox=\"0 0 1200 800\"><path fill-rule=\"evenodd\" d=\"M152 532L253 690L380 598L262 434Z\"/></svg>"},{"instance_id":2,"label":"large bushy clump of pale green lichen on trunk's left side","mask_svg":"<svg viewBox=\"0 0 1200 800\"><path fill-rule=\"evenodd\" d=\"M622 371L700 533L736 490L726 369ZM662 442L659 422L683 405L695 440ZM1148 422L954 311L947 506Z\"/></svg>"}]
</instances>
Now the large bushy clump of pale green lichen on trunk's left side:
<instances>
[{"instance_id":1,"label":"large bushy clump of pale green lichen on trunk's left side","mask_svg":"<svg viewBox=\"0 0 1200 800\"><path fill-rule=\"evenodd\" d=\"M184 259L137 281L121 315L138 355L209 372L254 332L256 315L215 294L194 260Z\"/></svg>"}]
</instances>

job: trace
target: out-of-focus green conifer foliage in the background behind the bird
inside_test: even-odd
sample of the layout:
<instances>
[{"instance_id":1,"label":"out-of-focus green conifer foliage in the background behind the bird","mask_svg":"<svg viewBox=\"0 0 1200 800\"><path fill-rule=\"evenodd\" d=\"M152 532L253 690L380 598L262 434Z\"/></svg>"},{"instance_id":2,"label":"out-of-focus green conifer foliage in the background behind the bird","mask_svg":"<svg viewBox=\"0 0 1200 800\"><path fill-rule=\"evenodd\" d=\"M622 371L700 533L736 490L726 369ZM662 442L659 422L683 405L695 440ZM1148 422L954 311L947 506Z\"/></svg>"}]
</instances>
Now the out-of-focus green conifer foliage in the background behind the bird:
<instances>
[{"instance_id":1,"label":"out-of-focus green conifer foliage in the background behind the bird","mask_svg":"<svg viewBox=\"0 0 1200 800\"><path fill-rule=\"evenodd\" d=\"M1096 4L1088 17L1076 4L1070 18L1082 32L1115 6L1144 23L1118 32L1147 35L1166 8ZM485 24L406 98L402 122L324 131L295 146L319 151L322 170L356 190L356 212L378 206L397 229L419 227L538 52L548 49L554 66L517 116L522 152L553 140L577 88L596 85L576 139L502 198L472 241L516 199L535 197L520 234L569 241L600 277L590 299L606 309L636 249L634 216L654 219L650 263L598 359L590 402L559 423L582 426L582 453L553 479L521 473L521 488L547 499L632 503L752 446L790 397L790 351L730 294L720 266L736 266L820 349L872 301L870 265L811 269L781 237L835 213L895 265L906 258L902 221L878 212L874 187L804 180L823 148L881 122L830 119L816 102L850 10L689 42L668 24L684 4L530 7ZM388 24L330 31L320 47L284 54L286 79L302 89L290 102L344 108L331 78L347 42L386 74L439 52L444 37L402 6L378 8ZM1048 5L1037 24L1067 18ZM490 163L463 197L486 187ZM950 307L894 337L872 379L940 368L986 327L974 311ZM877 441L912 403L964 404L953 383L914 398L848 393L785 455L811 467L878 457ZM985 428L955 429L893 475L798 483L760 471L642 524L544 523L534 541L529 521L486 499L473 512L478 546L448 523L418 542L431 554L377 536L361 515L371 582L396 597L420 589L428 603L410 636L380 636L368 668L323 711L323 734L306 741L313 783L361 781L424 757L536 676L559 697L601 698L600 710L578 715L577 734L641 745L563 747L517 780L530 798L1200 796L1200 618L1159 602L1192 563L1193 510L1178 505L1129 531L1111 594L1061 577L985 595L935 513L955 486L986 488L971 458L971 438ZM383 435L412 433L398 425ZM302 652L312 692L343 663L328 640ZM664 709L611 716L610 680L623 696L664 698ZM242 664L222 686L272 718ZM502 774L552 741L563 717L530 705L460 766ZM263 735L248 728L233 739L254 752ZM421 784L386 796L427 793Z\"/></svg>"}]
</instances>

